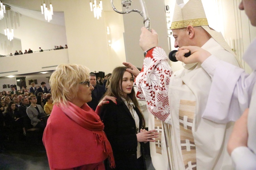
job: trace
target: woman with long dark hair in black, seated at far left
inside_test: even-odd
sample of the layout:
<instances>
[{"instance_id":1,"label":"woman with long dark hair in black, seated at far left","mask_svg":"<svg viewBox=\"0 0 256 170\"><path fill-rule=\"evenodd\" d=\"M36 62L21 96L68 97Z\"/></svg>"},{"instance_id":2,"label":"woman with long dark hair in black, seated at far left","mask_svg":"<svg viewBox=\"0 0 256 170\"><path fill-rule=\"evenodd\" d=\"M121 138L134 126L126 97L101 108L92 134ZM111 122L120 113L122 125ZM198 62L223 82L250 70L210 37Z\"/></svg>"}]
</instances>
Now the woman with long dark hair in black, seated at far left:
<instances>
[{"instance_id":1,"label":"woman with long dark hair in black, seated at far left","mask_svg":"<svg viewBox=\"0 0 256 170\"><path fill-rule=\"evenodd\" d=\"M23 125L23 120L19 118L18 108L13 101L11 101L7 106L7 109L4 113L4 120L6 126L10 127L12 130L20 128L23 130L23 135L26 136L26 130Z\"/></svg>"}]
</instances>

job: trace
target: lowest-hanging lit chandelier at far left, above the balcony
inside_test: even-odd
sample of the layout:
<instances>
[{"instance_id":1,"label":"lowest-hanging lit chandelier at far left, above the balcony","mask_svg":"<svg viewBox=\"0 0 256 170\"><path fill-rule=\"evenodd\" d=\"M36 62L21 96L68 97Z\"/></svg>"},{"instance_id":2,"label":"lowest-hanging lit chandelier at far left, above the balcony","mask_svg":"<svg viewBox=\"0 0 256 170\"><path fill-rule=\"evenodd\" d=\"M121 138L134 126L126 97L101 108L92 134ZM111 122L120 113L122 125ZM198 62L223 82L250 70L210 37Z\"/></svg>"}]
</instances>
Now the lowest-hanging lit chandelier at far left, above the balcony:
<instances>
[{"instance_id":1,"label":"lowest-hanging lit chandelier at far left, above the balcony","mask_svg":"<svg viewBox=\"0 0 256 170\"><path fill-rule=\"evenodd\" d=\"M13 26L12 26L12 13L10 6L3 5L1 3L1 8L3 6L3 11L5 13L4 17L4 34L7 36L8 40L13 40ZM2 12L1 12L2 13ZM10 28L10 29L9 29Z\"/></svg>"}]
</instances>

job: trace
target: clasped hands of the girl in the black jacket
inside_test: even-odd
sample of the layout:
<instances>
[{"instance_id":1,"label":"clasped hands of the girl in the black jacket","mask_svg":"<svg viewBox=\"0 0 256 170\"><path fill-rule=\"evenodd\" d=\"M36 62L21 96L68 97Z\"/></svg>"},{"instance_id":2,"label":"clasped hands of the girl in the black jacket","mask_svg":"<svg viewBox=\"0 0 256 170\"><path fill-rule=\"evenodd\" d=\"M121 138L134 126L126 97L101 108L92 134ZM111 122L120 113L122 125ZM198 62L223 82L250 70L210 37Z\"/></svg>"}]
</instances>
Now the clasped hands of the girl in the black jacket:
<instances>
[{"instance_id":1,"label":"clasped hands of the girl in the black jacket","mask_svg":"<svg viewBox=\"0 0 256 170\"><path fill-rule=\"evenodd\" d=\"M137 141L138 142L155 142L153 138L157 138L159 133L156 132L157 130L150 130L147 131L145 129L141 129L140 133L137 133Z\"/></svg>"}]
</instances>

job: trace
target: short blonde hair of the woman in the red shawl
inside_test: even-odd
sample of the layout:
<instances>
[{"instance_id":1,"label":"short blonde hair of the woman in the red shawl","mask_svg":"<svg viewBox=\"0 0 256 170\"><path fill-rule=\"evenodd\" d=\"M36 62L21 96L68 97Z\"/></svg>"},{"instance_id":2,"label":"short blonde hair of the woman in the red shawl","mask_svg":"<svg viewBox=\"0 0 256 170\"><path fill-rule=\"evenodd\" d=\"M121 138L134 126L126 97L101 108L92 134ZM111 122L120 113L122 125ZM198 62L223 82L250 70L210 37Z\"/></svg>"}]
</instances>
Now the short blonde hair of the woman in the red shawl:
<instances>
[{"instance_id":1,"label":"short blonde hair of the woman in the red shawl","mask_svg":"<svg viewBox=\"0 0 256 170\"><path fill-rule=\"evenodd\" d=\"M89 69L80 64L60 64L49 83L55 104L68 104L76 97L81 82L89 80Z\"/></svg>"}]
</instances>

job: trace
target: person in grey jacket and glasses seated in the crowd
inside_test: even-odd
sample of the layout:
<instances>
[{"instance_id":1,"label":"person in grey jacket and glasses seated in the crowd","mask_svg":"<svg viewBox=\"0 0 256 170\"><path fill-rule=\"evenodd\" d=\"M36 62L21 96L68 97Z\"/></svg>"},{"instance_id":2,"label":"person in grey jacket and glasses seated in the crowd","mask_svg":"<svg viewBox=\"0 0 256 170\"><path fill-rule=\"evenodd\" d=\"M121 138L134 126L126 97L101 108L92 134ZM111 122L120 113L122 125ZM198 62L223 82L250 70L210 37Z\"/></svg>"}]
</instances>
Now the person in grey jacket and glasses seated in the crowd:
<instances>
[{"instance_id":1,"label":"person in grey jacket and glasses seated in the crowd","mask_svg":"<svg viewBox=\"0 0 256 170\"><path fill-rule=\"evenodd\" d=\"M46 115L42 106L36 104L37 100L35 95L30 95L28 100L31 102L31 105L26 109L26 112L31 120L31 125L33 125L34 128L45 129L45 123L38 119L38 117Z\"/></svg>"}]
</instances>

